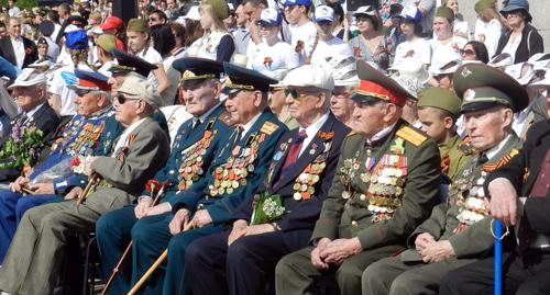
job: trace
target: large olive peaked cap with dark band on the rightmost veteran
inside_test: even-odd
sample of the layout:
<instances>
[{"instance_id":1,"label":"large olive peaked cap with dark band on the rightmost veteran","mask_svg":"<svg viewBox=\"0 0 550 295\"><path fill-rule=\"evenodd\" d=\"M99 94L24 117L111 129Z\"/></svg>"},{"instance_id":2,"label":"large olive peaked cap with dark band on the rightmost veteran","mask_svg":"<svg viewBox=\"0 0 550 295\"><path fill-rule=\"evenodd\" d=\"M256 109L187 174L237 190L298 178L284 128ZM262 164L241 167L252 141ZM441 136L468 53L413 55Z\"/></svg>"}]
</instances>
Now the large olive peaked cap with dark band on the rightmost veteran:
<instances>
[{"instance_id":1,"label":"large olive peaked cap with dark band on the rightmost veteran","mask_svg":"<svg viewBox=\"0 0 550 295\"><path fill-rule=\"evenodd\" d=\"M462 98L462 113L495 105L505 105L519 112L529 104L527 91L521 84L487 65L463 65L457 69L452 81L454 91Z\"/></svg>"}]
</instances>

